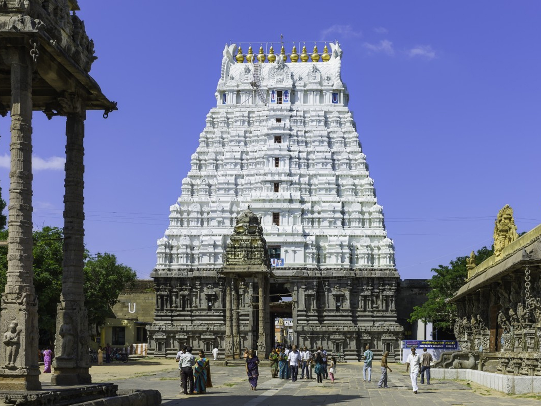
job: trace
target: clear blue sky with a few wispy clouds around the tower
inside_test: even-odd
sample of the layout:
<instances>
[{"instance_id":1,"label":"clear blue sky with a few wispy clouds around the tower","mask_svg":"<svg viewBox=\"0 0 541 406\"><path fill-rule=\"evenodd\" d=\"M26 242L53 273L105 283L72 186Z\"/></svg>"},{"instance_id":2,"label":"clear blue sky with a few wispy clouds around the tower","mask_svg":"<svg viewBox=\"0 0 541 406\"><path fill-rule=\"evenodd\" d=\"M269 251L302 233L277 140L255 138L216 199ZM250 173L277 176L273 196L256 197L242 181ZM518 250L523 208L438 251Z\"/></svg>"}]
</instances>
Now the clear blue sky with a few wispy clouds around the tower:
<instances>
[{"instance_id":1,"label":"clear blue sky with a few wispy clouds around the tower","mask_svg":"<svg viewBox=\"0 0 541 406\"><path fill-rule=\"evenodd\" d=\"M335 40L402 278L492 244L500 208L541 222L541 3L80 1L91 75L85 240L147 278L180 195L226 42ZM8 198L9 117L0 117ZM64 126L34 113L34 224L62 226ZM56 158L55 158L56 157Z\"/></svg>"}]
</instances>

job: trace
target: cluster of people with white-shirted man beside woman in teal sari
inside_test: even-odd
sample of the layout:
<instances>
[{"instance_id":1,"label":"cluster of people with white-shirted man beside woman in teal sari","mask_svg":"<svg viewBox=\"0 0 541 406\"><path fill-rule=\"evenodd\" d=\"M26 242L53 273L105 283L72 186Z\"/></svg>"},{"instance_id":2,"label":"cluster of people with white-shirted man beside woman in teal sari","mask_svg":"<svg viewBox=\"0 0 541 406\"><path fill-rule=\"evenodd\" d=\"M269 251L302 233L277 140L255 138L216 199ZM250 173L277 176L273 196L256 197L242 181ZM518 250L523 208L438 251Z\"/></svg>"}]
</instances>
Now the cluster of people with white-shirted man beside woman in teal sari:
<instances>
[{"instance_id":1,"label":"cluster of people with white-shirted man beside woman in teal sari","mask_svg":"<svg viewBox=\"0 0 541 406\"><path fill-rule=\"evenodd\" d=\"M212 388L210 362L203 350L199 351L197 359L192 355L192 351L191 346L183 345L182 350L176 354L180 370L180 385L184 395L203 395L207 392L207 388Z\"/></svg>"}]
</instances>

